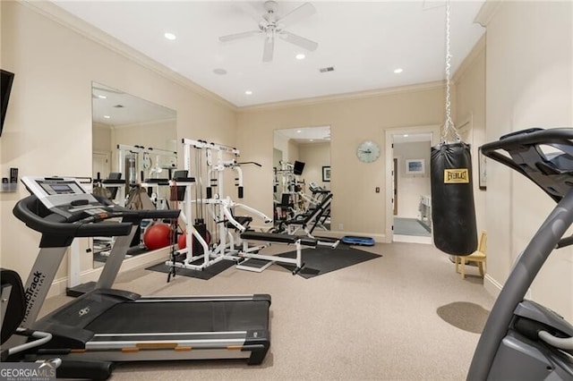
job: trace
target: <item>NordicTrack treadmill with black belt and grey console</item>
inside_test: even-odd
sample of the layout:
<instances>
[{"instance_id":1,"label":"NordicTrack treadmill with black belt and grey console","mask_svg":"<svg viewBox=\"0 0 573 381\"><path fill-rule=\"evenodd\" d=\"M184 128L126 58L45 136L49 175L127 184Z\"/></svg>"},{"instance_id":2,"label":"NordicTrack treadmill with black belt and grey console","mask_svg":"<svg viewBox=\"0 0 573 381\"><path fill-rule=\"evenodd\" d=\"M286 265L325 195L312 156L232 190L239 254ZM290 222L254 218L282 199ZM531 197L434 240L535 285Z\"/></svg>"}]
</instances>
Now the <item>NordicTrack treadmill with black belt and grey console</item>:
<instances>
[{"instance_id":1,"label":"NordicTrack treadmill with black belt and grey console","mask_svg":"<svg viewBox=\"0 0 573 381\"><path fill-rule=\"evenodd\" d=\"M269 294L142 297L111 288L141 219L177 218L179 210L119 207L96 198L73 178L21 180L31 195L18 201L13 214L42 233L25 285L28 303L21 327L53 335L37 355L58 357L63 365L66 360L193 359L261 364L270 346ZM95 289L37 320L73 239L93 236L117 237Z\"/></svg>"}]
</instances>

